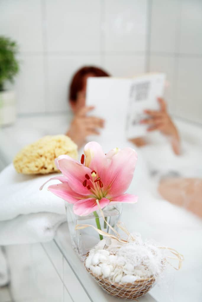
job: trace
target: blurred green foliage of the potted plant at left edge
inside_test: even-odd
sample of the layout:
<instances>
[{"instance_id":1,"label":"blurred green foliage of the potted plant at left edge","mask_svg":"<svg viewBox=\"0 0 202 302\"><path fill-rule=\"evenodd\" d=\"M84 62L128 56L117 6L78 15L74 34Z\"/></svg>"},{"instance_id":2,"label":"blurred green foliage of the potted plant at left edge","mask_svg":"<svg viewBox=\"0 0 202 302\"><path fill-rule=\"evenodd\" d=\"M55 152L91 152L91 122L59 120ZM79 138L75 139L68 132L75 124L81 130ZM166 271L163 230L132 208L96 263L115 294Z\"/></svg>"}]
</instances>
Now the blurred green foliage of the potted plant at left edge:
<instances>
[{"instance_id":1,"label":"blurred green foliage of the potted plant at left edge","mask_svg":"<svg viewBox=\"0 0 202 302\"><path fill-rule=\"evenodd\" d=\"M10 38L0 36L0 91L4 89L4 82L13 82L14 76L19 71L19 63L16 59L18 46Z\"/></svg>"}]
</instances>

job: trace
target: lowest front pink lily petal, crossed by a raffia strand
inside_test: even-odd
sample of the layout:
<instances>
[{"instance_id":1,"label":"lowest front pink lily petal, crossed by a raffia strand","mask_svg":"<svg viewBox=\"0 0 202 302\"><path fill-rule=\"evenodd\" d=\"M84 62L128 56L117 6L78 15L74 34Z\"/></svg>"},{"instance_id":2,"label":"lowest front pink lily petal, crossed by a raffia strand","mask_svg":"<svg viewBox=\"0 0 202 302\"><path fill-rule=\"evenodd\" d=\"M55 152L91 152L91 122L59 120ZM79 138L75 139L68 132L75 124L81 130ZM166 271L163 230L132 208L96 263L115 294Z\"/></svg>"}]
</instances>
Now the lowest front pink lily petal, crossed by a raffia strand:
<instances>
[{"instance_id":1,"label":"lowest front pink lily petal, crossed by a raffia strand","mask_svg":"<svg viewBox=\"0 0 202 302\"><path fill-rule=\"evenodd\" d=\"M102 198L99 200L99 204L101 208L104 208L107 204L109 204L109 199ZM99 208L95 198L81 199L73 206L74 213L79 216L88 215L94 211L97 211L98 209Z\"/></svg>"}]
</instances>

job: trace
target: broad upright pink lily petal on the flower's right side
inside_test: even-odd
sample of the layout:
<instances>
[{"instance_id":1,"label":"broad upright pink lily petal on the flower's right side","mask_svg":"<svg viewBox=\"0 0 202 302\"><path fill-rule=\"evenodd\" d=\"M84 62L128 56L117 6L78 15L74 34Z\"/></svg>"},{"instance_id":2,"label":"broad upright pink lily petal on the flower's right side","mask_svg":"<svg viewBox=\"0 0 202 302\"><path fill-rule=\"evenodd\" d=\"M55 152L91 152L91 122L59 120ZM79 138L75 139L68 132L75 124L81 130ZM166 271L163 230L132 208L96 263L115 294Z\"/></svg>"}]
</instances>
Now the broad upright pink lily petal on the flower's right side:
<instances>
[{"instance_id":1,"label":"broad upright pink lily petal on the flower's right side","mask_svg":"<svg viewBox=\"0 0 202 302\"><path fill-rule=\"evenodd\" d=\"M136 162L137 153L132 148L119 150L112 157L107 177L102 179L103 183L110 186L108 191L110 196L121 195L127 190L133 178Z\"/></svg>"}]
</instances>

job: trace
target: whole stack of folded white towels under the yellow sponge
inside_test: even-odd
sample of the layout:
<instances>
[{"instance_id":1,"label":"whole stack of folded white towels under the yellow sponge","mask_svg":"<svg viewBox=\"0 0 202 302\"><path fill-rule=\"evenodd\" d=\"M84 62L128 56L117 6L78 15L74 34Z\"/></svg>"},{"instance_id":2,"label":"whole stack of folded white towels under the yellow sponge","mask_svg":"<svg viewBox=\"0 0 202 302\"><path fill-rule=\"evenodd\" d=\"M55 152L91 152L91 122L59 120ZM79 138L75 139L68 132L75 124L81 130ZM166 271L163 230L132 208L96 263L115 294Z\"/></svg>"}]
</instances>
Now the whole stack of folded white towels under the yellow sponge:
<instances>
[{"instance_id":1,"label":"whole stack of folded white towels under the yellow sponge","mask_svg":"<svg viewBox=\"0 0 202 302\"><path fill-rule=\"evenodd\" d=\"M54 175L21 175L12 164L0 173L0 246L53 239L66 220L65 204L39 188Z\"/></svg>"}]
</instances>

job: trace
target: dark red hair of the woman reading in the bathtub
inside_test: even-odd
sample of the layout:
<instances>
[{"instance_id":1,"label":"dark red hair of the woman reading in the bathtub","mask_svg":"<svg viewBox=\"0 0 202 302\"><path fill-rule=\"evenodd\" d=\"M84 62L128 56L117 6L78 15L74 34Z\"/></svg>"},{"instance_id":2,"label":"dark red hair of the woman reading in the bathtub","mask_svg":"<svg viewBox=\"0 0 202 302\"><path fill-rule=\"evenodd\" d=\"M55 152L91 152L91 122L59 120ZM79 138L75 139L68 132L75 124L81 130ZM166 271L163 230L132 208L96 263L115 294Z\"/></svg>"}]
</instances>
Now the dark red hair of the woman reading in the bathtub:
<instances>
[{"instance_id":1,"label":"dark red hair of the woman reading in the bathtub","mask_svg":"<svg viewBox=\"0 0 202 302\"><path fill-rule=\"evenodd\" d=\"M104 70L94 66L84 66L80 68L72 77L69 88L69 101L76 102L78 92L84 88L84 76L92 73L96 77L109 76Z\"/></svg>"}]
</instances>

